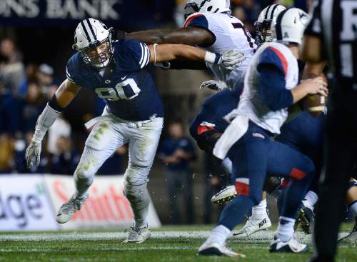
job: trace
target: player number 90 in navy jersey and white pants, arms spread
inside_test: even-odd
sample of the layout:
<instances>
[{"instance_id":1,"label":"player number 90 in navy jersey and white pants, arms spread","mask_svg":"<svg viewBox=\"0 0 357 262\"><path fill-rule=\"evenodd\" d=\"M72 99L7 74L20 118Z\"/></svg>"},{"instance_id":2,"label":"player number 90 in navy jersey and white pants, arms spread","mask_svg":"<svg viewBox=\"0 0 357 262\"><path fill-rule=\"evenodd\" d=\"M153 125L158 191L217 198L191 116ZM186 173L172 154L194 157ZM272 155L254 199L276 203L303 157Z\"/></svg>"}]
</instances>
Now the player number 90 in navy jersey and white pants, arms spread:
<instances>
[{"instance_id":1,"label":"player number 90 in navy jersey and white pants, arms spread","mask_svg":"<svg viewBox=\"0 0 357 262\"><path fill-rule=\"evenodd\" d=\"M117 148L129 143L129 166L124 194L131 203L135 223L126 242L141 243L150 236L146 216L150 196L146 184L163 126L163 106L153 79L144 67L149 63L177 58L220 64L228 70L243 61L237 51L214 54L192 46L151 45L136 40L113 41L111 29L96 19L84 19L76 27L74 49L66 66L67 79L39 116L31 144L26 149L28 166L39 165L41 141L61 111L81 88L94 91L106 101L102 116L86 140L74 172L76 192L64 203L56 220L66 223L88 198L94 174Z\"/></svg>"}]
</instances>

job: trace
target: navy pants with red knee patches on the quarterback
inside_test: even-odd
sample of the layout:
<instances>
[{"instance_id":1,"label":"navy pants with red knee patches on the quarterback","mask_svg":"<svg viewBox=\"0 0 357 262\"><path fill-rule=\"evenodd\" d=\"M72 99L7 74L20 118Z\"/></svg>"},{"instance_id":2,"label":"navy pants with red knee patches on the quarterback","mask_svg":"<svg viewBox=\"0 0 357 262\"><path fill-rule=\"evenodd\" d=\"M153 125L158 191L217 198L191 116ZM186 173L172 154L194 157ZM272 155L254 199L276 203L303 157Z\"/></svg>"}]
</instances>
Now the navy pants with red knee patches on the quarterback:
<instances>
[{"instance_id":1,"label":"navy pants with red knee patches on the quarterback","mask_svg":"<svg viewBox=\"0 0 357 262\"><path fill-rule=\"evenodd\" d=\"M295 218L311 183L315 168L310 158L273 141L268 131L252 122L248 131L231 148L233 179L238 196L221 213L218 224L233 229L261 201L266 175L292 178L283 196L281 216Z\"/></svg>"}]
</instances>

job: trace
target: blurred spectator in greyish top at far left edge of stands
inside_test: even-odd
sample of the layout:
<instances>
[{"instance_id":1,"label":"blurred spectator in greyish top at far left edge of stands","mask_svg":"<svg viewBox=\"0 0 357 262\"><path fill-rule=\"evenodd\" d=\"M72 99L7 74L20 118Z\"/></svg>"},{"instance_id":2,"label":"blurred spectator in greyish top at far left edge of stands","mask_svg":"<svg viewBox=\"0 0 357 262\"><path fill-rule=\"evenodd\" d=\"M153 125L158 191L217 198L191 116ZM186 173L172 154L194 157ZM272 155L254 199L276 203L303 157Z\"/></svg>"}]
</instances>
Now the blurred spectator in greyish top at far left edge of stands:
<instances>
[{"instance_id":1,"label":"blurred spectator in greyish top at far left edge of stands","mask_svg":"<svg viewBox=\"0 0 357 262\"><path fill-rule=\"evenodd\" d=\"M21 61L22 56L16 50L14 41L11 39L3 39L1 41L0 54L7 59L4 66L0 69L0 77L4 80L6 88L17 96L25 74L24 64Z\"/></svg>"}]
</instances>

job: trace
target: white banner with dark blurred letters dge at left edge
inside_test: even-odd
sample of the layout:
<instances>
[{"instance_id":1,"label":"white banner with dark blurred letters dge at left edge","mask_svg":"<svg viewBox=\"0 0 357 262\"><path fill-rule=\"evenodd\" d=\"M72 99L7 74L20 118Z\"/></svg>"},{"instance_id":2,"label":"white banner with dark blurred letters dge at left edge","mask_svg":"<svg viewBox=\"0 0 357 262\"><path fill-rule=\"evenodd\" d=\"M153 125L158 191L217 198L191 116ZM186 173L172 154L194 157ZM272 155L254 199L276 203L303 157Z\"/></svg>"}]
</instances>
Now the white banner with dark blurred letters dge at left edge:
<instances>
[{"instance_id":1,"label":"white banner with dark blurred letters dge at left edge","mask_svg":"<svg viewBox=\"0 0 357 262\"><path fill-rule=\"evenodd\" d=\"M0 231L57 230L43 176L0 175Z\"/></svg>"}]
</instances>

